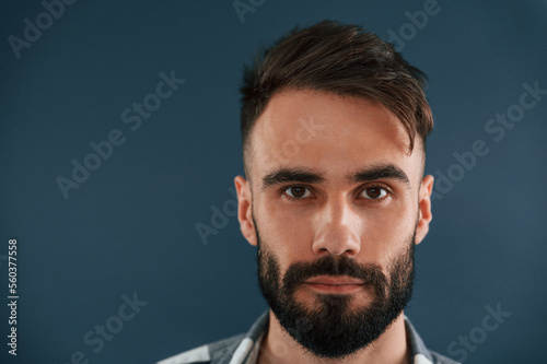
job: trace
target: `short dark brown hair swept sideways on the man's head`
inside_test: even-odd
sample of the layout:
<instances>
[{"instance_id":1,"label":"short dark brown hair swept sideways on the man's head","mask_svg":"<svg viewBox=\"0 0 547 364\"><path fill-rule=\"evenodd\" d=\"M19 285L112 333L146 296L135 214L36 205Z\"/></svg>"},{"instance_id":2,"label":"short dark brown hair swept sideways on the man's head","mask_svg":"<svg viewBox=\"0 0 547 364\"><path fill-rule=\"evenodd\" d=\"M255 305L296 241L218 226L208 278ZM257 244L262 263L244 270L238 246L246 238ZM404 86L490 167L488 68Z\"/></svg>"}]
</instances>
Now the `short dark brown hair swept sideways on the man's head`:
<instances>
[{"instance_id":1,"label":"short dark brown hair swept sideways on the man's head","mask_svg":"<svg viewBox=\"0 0 547 364\"><path fill-rule=\"evenodd\" d=\"M433 129L426 99L426 74L410 66L392 44L359 25L322 21L290 31L257 52L243 72L241 132L243 150L270 98L283 90L313 90L380 102L403 124L410 139L423 142Z\"/></svg>"}]
</instances>

